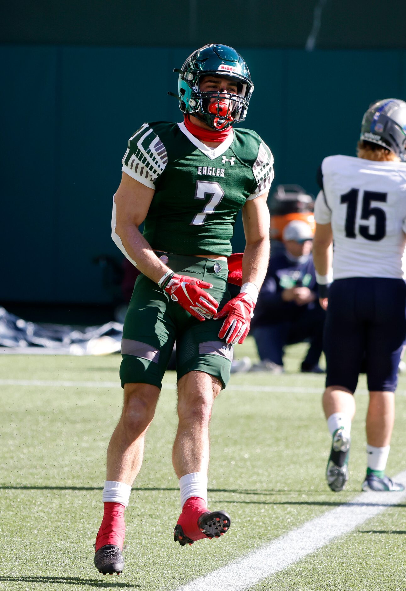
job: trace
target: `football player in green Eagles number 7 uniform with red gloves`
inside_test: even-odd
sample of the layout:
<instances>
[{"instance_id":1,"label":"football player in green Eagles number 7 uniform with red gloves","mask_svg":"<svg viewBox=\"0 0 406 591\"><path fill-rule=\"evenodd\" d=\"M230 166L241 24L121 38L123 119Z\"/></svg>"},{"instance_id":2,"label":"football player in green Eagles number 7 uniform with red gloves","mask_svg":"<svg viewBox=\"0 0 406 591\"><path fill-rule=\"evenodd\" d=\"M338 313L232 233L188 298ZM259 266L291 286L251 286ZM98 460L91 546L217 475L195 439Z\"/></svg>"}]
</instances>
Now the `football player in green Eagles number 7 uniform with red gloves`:
<instances>
[{"instance_id":1,"label":"football player in green Eagles number 7 uniform with red gloves","mask_svg":"<svg viewBox=\"0 0 406 591\"><path fill-rule=\"evenodd\" d=\"M182 507L175 541L220 537L230 527L227 513L207 509L209 419L230 378L233 345L250 328L269 259L273 157L255 132L233 128L253 92L247 65L233 48L211 44L175 71L184 121L145 123L135 132L113 198L112 238L141 275L123 330L123 411L107 449L94 556L103 573L123 570L124 509L175 340L179 425L172 459ZM231 298L227 257L240 210L243 285Z\"/></svg>"}]
</instances>

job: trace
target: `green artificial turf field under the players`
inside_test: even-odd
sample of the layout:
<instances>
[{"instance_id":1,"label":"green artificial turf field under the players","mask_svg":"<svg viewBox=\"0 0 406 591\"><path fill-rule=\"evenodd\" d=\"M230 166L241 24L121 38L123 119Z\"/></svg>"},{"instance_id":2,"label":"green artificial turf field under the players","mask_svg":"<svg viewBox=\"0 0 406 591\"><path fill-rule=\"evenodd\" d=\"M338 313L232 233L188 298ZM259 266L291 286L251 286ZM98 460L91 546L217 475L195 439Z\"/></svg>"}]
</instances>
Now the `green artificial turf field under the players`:
<instances>
[{"instance_id":1,"label":"green artificial turf field under the players","mask_svg":"<svg viewBox=\"0 0 406 591\"><path fill-rule=\"evenodd\" d=\"M236 353L254 357L252 340ZM224 508L232 525L221 540L191 547L173 542L179 515L171 465L176 391L175 375L166 374L126 510L126 567L119 577L96 571L92 544L102 515L107 443L122 402L120 356L0 356L0 589L175 591L359 495L368 398L362 392L356 397L348 487L330 492L324 480L330 440L320 406L323 376L298 374L301 355L303 346L288 350L284 375L232 376L215 402L209 508ZM72 381L87 384L72 387ZM106 382L112 384L104 387ZM365 376L359 388L365 392ZM406 469L402 376L398 391L389 475ZM250 588L405 590L405 508L406 502L388 508ZM227 591L227 581L220 577L217 589Z\"/></svg>"}]
</instances>

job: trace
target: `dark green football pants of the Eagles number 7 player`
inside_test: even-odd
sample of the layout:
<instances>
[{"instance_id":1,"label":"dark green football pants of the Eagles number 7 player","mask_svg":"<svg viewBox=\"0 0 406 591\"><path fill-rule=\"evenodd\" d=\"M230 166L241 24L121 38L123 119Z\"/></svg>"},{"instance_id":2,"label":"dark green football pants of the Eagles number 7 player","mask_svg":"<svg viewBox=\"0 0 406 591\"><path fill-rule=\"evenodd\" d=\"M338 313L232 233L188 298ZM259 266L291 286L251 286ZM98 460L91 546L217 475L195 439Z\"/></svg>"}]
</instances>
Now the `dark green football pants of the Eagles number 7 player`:
<instances>
[{"instance_id":1,"label":"dark green football pants of the Eagles number 7 player","mask_svg":"<svg viewBox=\"0 0 406 591\"><path fill-rule=\"evenodd\" d=\"M162 253L158 253L158 256ZM219 310L230 300L227 261L166 254L168 267L181 275L197 277L213 285L208 293ZM200 322L145 275L136 280L127 310L122 341L120 379L124 384L141 382L162 387L162 377L176 341L176 374L179 380L191 371L230 379L233 347L218 332L224 319Z\"/></svg>"}]
</instances>

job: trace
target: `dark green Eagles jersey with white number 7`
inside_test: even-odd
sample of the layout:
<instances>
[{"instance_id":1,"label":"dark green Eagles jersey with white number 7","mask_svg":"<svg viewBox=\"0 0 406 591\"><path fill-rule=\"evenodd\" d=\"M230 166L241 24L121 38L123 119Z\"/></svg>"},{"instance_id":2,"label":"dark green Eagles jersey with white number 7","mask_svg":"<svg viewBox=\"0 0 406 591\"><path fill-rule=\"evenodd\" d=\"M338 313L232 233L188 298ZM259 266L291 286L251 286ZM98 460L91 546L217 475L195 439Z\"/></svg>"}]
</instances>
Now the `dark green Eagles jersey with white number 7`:
<instances>
[{"instance_id":1,"label":"dark green Eagles jersey with white number 7","mask_svg":"<svg viewBox=\"0 0 406 591\"><path fill-rule=\"evenodd\" d=\"M182 123L145 123L129 139L122 170L155 194L143 236L158 251L231 254L237 213L273 180L273 156L249 129L208 148Z\"/></svg>"}]
</instances>

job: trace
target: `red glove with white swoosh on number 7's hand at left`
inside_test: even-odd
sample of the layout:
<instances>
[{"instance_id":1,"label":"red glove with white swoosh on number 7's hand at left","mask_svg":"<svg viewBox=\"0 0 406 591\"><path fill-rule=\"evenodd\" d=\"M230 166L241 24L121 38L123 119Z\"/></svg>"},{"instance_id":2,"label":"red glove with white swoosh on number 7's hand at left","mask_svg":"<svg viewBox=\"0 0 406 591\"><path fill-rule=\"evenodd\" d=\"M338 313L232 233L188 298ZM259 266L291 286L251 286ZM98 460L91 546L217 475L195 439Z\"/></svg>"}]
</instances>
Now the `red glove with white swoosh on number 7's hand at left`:
<instances>
[{"instance_id":1,"label":"red glove with white swoosh on number 7's hand at left","mask_svg":"<svg viewBox=\"0 0 406 591\"><path fill-rule=\"evenodd\" d=\"M189 314L202 322L212 318L218 309L218 301L204 291L212 287L207 281L175 273L163 290L171 296L171 300L177 301Z\"/></svg>"}]
</instances>

